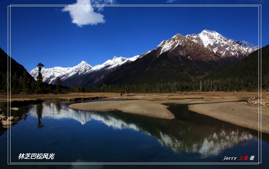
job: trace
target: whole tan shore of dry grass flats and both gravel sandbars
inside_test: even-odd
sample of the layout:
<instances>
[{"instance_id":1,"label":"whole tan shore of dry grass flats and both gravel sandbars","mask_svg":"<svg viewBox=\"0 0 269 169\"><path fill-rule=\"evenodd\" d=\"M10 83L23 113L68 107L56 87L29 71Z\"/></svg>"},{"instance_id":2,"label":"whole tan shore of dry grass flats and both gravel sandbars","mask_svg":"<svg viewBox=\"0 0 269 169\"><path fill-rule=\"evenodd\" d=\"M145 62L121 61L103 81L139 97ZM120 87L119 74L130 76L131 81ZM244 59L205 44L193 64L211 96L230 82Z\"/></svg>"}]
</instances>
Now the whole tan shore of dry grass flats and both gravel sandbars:
<instances>
[{"instance_id":1,"label":"whole tan shore of dry grass flats and both gravel sandbars","mask_svg":"<svg viewBox=\"0 0 269 169\"><path fill-rule=\"evenodd\" d=\"M124 100L125 106L116 105L113 103L113 101L109 101L110 106L107 106L106 108L104 108L104 106L99 105L99 108L97 108L98 106L95 106L94 108L91 109L84 108L84 110L92 110L92 111L117 110L126 113L133 113L164 119L173 119L175 117L167 109L167 106L165 107L165 105L162 105L162 103L189 104L188 107L190 111L194 111L196 113L204 114L228 123L254 129L256 131L262 131L263 133L269 134L269 107L262 107L262 106L258 107L257 105L247 106L244 105L245 102L231 102L231 101L239 101L242 99L248 99L251 96L258 96L258 92L180 92L180 93L178 92L178 93L161 93L161 94L138 93L127 95L125 94L123 96L120 96L120 93L68 93L60 95L18 94L18 95L11 95L10 101L16 101L16 100L27 101L27 100L40 99L41 101L45 102L57 102L57 101L84 100L84 98L90 98L90 97L98 100L131 99L131 100ZM262 96L263 97L269 96L269 92L262 92ZM266 102L268 102L269 98L266 100L267 100ZM5 102L7 102L7 95L0 94L0 109L1 107L5 107L3 104L1 104ZM91 102L91 103L97 104L98 102ZM103 104L104 103L105 102L103 102ZM84 104L84 103L75 103L73 105L76 104ZM74 106L71 107L75 108ZM260 114L258 113L258 111L260 111Z\"/></svg>"}]
</instances>

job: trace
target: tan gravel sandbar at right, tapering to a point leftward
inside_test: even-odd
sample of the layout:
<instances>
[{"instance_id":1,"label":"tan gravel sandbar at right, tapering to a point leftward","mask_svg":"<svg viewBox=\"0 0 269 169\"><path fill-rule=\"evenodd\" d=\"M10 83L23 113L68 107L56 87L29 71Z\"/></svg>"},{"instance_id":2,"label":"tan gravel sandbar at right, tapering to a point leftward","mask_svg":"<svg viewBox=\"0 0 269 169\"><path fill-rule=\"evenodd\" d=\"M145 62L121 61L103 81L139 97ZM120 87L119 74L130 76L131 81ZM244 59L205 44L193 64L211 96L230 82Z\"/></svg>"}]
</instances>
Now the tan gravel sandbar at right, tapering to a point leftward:
<instances>
[{"instance_id":1,"label":"tan gravel sandbar at right, tapering to a point leftward","mask_svg":"<svg viewBox=\"0 0 269 169\"><path fill-rule=\"evenodd\" d=\"M269 134L269 108L246 106L244 103L207 103L188 107L191 111Z\"/></svg>"}]
</instances>

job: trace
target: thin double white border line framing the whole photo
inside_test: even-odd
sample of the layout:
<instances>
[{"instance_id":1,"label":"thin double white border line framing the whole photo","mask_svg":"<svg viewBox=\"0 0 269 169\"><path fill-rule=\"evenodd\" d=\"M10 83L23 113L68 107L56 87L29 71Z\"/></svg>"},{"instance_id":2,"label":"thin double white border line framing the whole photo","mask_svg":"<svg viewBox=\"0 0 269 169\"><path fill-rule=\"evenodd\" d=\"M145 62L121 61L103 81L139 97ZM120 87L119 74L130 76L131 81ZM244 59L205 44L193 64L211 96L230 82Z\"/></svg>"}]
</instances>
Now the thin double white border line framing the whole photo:
<instances>
[{"instance_id":1,"label":"thin double white border line framing the whole photo","mask_svg":"<svg viewBox=\"0 0 269 169\"><path fill-rule=\"evenodd\" d=\"M82 5L10 5L10 46L11 46L11 6L17 6L17 7L60 7L60 6L82 6ZM112 6L112 7L170 7L170 5L84 5L84 6ZM261 5L173 5L171 7L261 7ZM258 10L259 12L259 10ZM260 13L259 17L260 18ZM259 21L258 21L259 23ZM260 25L258 25L259 27ZM260 29L260 28L259 28ZM258 30L259 33L259 30ZM259 33L260 36L260 33ZM258 39L259 39L258 36ZM259 44L259 43L258 43ZM258 49L259 50L259 49ZM259 52L259 51L258 51ZM10 50L11 53L11 50ZM11 56L10 56L11 60ZM259 69L258 69L259 70ZM11 66L10 66L11 71ZM259 80L258 80L259 83ZM262 85L262 84L260 84ZM10 86L11 90L11 86ZM258 87L259 90L259 87ZM259 93L259 91L258 91ZM10 96L11 99L11 96ZM11 106L11 102L10 102ZM259 106L258 106L259 109ZM259 123L259 122L258 122ZM11 132L11 129L10 129ZM260 132L262 133L262 132ZM259 140L259 134L258 134L258 140ZM10 134L10 148L11 148L11 134ZM261 149L262 150L262 149ZM259 154L259 142L258 142L258 154ZM259 154L260 155L260 154ZM258 163L93 163L93 164L259 164L259 155L258 155ZM10 150L10 164L11 164L11 150ZM61 163L12 163L12 164L61 164ZM80 163L63 163L63 164L80 164Z\"/></svg>"}]
</instances>

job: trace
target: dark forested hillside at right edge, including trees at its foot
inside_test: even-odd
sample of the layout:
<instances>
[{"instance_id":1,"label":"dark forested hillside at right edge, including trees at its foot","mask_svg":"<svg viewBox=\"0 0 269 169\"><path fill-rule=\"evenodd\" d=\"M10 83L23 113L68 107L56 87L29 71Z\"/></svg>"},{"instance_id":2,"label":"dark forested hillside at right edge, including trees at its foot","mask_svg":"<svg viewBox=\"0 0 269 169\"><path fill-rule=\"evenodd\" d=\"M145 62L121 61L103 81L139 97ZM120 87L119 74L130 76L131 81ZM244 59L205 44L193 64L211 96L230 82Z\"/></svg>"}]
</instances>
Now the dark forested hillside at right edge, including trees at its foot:
<instances>
[{"instance_id":1,"label":"dark forested hillside at right edge, including trees at its foot","mask_svg":"<svg viewBox=\"0 0 269 169\"><path fill-rule=\"evenodd\" d=\"M259 52L260 57L259 59ZM262 47L259 50L249 54L242 60L223 66L218 70L213 71L202 81L213 81L219 83L215 89L226 88L233 90L241 89L258 89L258 77L262 79L262 88L268 89L269 85L269 45ZM259 64L260 63L260 64ZM260 73L259 67L260 65ZM222 86L222 87L221 87ZM204 86L203 86L204 87ZM205 88L205 87L204 87Z\"/></svg>"}]
</instances>

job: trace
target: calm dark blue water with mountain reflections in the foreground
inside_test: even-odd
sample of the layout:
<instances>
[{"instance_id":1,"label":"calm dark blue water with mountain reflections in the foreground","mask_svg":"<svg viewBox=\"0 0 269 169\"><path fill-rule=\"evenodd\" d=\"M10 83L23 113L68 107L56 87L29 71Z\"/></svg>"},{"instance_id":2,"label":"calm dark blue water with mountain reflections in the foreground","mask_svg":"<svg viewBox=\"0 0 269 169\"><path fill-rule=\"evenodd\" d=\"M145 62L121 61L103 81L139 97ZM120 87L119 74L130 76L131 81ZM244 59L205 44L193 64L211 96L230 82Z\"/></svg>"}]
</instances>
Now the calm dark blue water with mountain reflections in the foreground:
<instances>
[{"instance_id":1,"label":"calm dark blue water with mountain reflections in the foreground","mask_svg":"<svg viewBox=\"0 0 269 169\"><path fill-rule=\"evenodd\" d=\"M124 101L121 101L124 102ZM18 124L0 130L0 166L4 168L267 168L269 136L189 111L185 104L166 104L176 119L122 112L69 108L75 102L40 103L11 111ZM7 110L3 110L5 113ZM14 163L7 165L7 137ZM19 154L55 154L54 159L18 159ZM257 165L77 165L75 163L257 163ZM236 160L223 160L224 157ZM255 156L254 160L238 160ZM72 164L74 163L74 164ZM1 168L2 168L1 167Z\"/></svg>"}]
</instances>

